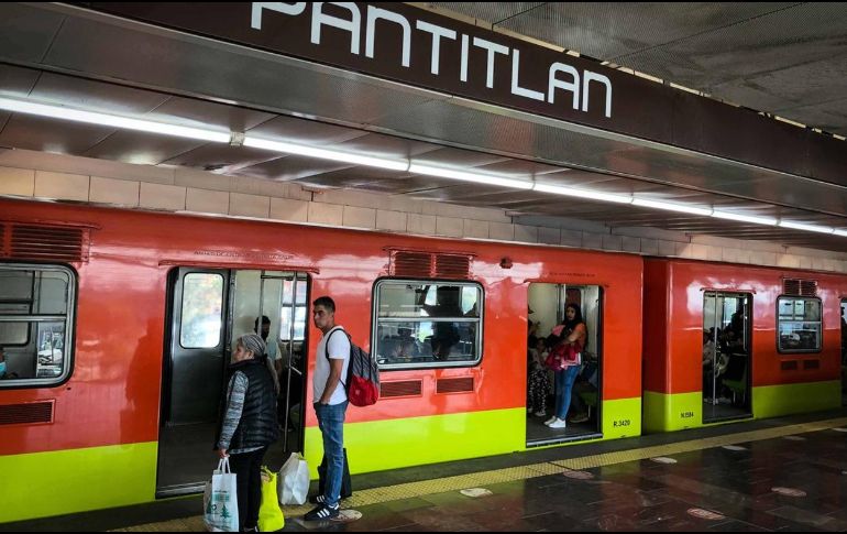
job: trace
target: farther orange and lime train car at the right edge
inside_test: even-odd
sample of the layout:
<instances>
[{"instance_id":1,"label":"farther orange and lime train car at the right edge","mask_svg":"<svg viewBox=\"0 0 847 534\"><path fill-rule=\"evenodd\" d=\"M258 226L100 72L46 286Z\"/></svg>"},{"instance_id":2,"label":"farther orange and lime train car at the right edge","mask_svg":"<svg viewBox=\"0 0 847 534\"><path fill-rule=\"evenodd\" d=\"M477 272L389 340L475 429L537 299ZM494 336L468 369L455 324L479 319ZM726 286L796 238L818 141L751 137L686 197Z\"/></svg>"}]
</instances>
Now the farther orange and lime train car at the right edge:
<instances>
[{"instance_id":1,"label":"farther orange and lime train car at the right edge","mask_svg":"<svg viewBox=\"0 0 847 534\"><path fill-rule=\"evenodd\" d=\"M842 275L645 262L645 429L842 405Z\"/></svg>"}]
</instances>

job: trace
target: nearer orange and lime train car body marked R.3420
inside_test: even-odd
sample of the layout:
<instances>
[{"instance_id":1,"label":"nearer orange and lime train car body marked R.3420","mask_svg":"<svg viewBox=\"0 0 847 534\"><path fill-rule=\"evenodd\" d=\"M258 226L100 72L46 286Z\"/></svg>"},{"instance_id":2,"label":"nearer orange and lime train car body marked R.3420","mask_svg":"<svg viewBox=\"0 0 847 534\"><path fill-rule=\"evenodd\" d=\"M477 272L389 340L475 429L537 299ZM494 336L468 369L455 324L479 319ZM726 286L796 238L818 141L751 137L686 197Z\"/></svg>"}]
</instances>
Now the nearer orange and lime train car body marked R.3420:
<instances>
[{"instance_id":1,"label":"nearer orange and lime train car body marked R.3420","mask_svg":"<svg viewBox=\"0 0 847 534\"><path fill-rule=\"evenodd\" d=\"M448 367L432 360L417 368L389 366L382 372L383 399L348 411L345 446L354 473L569 443L527 437L531 284L588 287L602 304L595 350L601 369L608 371L598 385L595 432L583 439L641 432L639 257L51 203L0 200L0 268L18 276L13 280L30 276L26 284L54 268L68 279L61 286L68 306L65 315L61 309L53 316L31 310L25 324L37 333L34 341L24 336L20 347L8 349L10 366L32 380L0 383L0 522L143 503L167 494L160 491L169 469L162 458L166 447L179 440L167 433L180 428L173 406L194 391L180 385L178 362L172 357L204 346L185 335L185 324L183 330L174 326L186 317L185 308L174 303L195 283L191 273L229 276L221 279L227 281L224 294L227 287L238 288L242 271L263 273L262 284L265 277L273 282L266 272L298 273L301 279L295 277L295 283L302 281L308 288L308 298L296 301L305 316L310 299L331 295L338 322L366 349L378 339L378 287L402 281L392 286L400 293L439 283L479 288L480 309L468 309L465 315L472 317L458 319L471 324L471 331L482 328L477 346L469 341L469 350L479 352L475 359ZM41 237L19 239L28 231ZM62 255L57 251L67 248L63 240L70 235L70 255ZM461 260L459 266L439 268L446 258ZM47 292L44 284L38 292ZM222 306L238 307L238 298L230 294ZM223 346L246 331L255 315L244 316L251 323L239 319L229 337L215 337L207 345ZM24 320L16 317L0 316L0 322ZM221 324L221 317L212 323ZM45 337L47 319L58 326ZM392 320L399 319L386 317L381 325L387 328ZM302 369L308 378L320 357L315 355L320 333L306 323ZM53 366L53 374L47 363L55 360L54 352L43 357L41 346L28 349L33 342L52 342L51 336L67 339L67 350L59 356L64 363ZM59 348L48 350L63 352L59 342L53 345ZM24 358L26 350L38 351L37 360ZM216 358L220 362L220 355ZM213 383L210 391L219 389ZM300 404L311 406L310 381L301 395ZM196 399L184 401L188 406ZM321 457L320 433L314 411L307 407L300 414L299 439L314 472ZM190 450L209 470L215 464L212 437ZM175 465L186 458L178 457Z\"/></svg>"}]
</instances>

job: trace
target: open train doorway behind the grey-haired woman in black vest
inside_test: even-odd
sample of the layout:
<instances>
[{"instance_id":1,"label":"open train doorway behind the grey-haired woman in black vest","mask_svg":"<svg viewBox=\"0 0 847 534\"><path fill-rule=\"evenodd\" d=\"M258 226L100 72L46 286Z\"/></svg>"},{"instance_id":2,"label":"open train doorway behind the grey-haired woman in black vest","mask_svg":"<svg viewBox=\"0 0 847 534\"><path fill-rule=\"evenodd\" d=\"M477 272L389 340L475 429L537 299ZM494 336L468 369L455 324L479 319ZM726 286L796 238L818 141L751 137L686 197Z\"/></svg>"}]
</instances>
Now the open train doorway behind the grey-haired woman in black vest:
<instances>
[{"instance_id":1,"label":"open train doorway behind the grey-haired woman in black vest","mask_svg":"<svg viewBox=\"0 0 847 534\"><path fill-rule=\"evenodd\" d=\"M279 383L282 437L264 464L302 450L308 274L178 268L169 276L156 495L202 490L238 338L261 331ZM261 326L260 326L261 325Z\"/></svg>"}]
</instances>

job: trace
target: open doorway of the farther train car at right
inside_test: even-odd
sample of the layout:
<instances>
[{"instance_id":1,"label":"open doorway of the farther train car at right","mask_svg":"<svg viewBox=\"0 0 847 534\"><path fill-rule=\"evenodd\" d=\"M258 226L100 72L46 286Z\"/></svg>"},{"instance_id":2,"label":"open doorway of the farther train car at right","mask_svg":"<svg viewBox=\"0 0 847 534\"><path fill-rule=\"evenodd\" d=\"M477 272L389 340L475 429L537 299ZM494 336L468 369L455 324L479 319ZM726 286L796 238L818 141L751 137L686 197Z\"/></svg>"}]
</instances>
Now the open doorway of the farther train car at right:
<instances>
[{"instance_id":1,"label":"open doorway of the farther train car at right","mask_svg":"<svg viewBox=\"0 0 847 534\"><path fill-rule=\"evenodd\" d=\"M705 292L703 297L703 421L750 415L750 295Z\"/></svg>"}]
</instances>

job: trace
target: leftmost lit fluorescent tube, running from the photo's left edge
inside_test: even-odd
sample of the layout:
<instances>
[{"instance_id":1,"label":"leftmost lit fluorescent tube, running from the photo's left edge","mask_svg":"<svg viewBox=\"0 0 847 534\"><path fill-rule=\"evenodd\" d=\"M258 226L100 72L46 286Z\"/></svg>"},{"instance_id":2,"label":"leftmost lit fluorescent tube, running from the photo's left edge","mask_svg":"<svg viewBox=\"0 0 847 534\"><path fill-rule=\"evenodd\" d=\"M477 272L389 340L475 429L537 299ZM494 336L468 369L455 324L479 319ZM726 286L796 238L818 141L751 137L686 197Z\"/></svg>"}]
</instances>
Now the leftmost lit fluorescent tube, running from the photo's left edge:
<instances>
[{"instance_id":1,"label":"leftmost lit fluorescent tube, running from the photo's left edge","mask_svg":"<svg viewBox=\"0 0 847 534\"><path fill-rule=\"evenodd\" d=\"M122 130L162 133L164 135L175 135L178 138L197 139L200 141L211 141L216 143L229 143L231 137L230 132L216 132L211 130L202 130L200 128L166 124L164 122L154 122L150 120L130 119L129 117L119 117L116 115L98 113L94 111L82 111L79 109L67 108L65 106L35 103L24 100L14 100L11 98L0 98L0 109L12 111L14 113L37 115L40 117L48 117L51 119L72 120L75 122L86 122L89 124L120 128Z\"/></svg>"}]
</instances>

